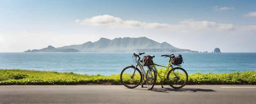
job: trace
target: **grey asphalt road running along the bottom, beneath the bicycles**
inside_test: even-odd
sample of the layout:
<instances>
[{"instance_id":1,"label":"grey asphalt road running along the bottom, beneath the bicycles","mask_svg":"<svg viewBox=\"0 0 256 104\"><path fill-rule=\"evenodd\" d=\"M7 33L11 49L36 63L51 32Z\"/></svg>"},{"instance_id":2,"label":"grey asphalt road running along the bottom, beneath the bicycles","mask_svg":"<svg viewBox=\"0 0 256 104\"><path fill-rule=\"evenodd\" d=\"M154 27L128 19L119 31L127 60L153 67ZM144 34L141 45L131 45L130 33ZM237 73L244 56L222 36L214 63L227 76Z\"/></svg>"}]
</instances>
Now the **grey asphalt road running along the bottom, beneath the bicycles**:
<instances>
[{"instance_id":1,"label":"grey asphalt road running along the bottom, beneath the bicycles","mask_svg":"<svg viewBox=\"0 0 256 104\"><path fill-rule=\"evenodd\" d=\"M256 85L7 85L0 86L0 103L256 104Z\"/></svg>"}]
</instances>

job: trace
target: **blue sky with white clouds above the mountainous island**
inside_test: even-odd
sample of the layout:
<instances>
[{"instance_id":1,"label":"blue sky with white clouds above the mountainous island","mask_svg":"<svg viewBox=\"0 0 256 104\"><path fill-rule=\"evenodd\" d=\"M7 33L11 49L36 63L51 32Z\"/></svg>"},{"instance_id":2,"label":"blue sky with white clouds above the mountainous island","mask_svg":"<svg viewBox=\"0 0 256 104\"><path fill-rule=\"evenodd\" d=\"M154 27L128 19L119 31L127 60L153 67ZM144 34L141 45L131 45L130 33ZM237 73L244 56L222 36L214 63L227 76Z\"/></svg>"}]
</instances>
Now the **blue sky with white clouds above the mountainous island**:
<instances>
[{"instance_id":1,"label":"blue sky with white clouds above the mountainous island","mask_svg":"<svg viewBox=\"0 0 256 104\"><path fill-rule=\"evenodd\" d=\"M218 47L222 52L256 52L255 4L255 0L0 0L0 52L61 47L100 37L148 37L197 51Z\"/></svg>"}]
</instances>

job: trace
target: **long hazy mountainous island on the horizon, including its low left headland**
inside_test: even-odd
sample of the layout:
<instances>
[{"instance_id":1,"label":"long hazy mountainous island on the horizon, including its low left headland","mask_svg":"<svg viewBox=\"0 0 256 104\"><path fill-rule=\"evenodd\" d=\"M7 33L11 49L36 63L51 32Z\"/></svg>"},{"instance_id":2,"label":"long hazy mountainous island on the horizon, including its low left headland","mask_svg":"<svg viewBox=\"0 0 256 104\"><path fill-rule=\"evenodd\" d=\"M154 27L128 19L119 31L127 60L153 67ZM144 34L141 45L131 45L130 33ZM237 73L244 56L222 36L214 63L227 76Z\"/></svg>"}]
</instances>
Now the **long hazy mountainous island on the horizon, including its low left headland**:
<instances>
[{"instance_id":1,"label":"long hazy mountainous island on the horizon, including its low left headland","mask_svg":"<svg viewBox=\"0 0 256 104\"><path fill-rule=\"evenodd\" d=\"M79 45L69 45L55 48L49 45L47 48L27 50L24 52L198 52L189 49L176 48L169 43L158 43L146 37L139 38L101 38L98 41L88 41Z\"/></svg>"}]
</instances>

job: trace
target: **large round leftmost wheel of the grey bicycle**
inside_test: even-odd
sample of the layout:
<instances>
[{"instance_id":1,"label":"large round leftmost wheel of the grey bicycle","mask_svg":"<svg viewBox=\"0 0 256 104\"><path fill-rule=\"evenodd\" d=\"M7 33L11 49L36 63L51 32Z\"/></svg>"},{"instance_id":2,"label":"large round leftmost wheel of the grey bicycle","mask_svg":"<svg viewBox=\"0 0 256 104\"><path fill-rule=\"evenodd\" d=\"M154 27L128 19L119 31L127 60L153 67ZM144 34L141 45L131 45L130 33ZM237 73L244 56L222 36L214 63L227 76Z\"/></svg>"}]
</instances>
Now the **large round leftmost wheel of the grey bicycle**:
<instances>
[{"instance_id":1,"label":"large round leftmost wheel of the grey bicycle","mask_svg":"<svg viewBox=\"0 0 256 104\"><path fill-rule=\"evenodd\" d=\"M133 65L128 66L124 68L123 71L121 72L120 80L125 87L132 89L139 86L142 80L142 74L139 71L139 69L138 68L135 69Z\"/></svg>"}]
</instances>

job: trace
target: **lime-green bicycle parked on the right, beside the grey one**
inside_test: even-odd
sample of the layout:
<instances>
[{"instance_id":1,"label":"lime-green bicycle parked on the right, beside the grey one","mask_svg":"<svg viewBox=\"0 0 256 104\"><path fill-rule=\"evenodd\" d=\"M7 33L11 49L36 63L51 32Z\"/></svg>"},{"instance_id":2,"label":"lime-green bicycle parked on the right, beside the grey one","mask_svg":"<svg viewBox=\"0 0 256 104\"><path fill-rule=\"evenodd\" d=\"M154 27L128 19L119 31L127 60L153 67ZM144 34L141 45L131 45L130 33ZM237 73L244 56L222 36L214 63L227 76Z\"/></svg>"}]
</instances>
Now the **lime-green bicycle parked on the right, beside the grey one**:
<instances>
[{"instance_id":1,"label":"lime-green bicycle parked on the right, beside the grey one","mask_svg":"<svg viewBox=\"0 0 256 104\"><path fill-rule=\"evenodd\" d=\"M156 64L154 62L152 66L148 66L148 71L146 74L146 85L147 85L148 89L150 89L150 90L153 89L155 82L157 80L157 76L159 76L159 78L161 80L162 88L164 88L163 82L169 83L169 85L171 87L173 87L174 89L180 89L180 88L184 87L186 85L186 83L188 82L188 74L187 74L186 70L181 68L181 65L176 65L171 62L171 60L176 58L174 56L174 54L161 55L161 56L169 57L170 58L169 63L167 66L164 66L164 65ZM152 57L152 59L153 59L153 57ZM166 67L164 75L160 74L160 72L157 70L156 66ZM177 66L177 67L173 67L173 66Z\"/></svg>"}]
</instances>

